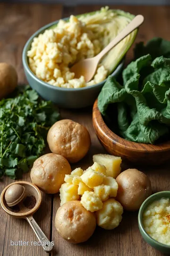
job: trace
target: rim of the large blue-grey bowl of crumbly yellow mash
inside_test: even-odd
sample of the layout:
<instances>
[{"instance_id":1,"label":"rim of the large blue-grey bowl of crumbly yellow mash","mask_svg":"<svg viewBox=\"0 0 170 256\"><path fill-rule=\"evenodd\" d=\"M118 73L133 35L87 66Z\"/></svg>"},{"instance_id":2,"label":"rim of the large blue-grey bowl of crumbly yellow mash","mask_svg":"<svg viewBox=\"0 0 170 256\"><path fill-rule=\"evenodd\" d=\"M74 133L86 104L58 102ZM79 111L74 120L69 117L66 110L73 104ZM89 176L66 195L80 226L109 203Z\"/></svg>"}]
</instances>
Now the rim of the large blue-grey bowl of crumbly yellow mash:
<instances>
[{"instance_id":1,"label":"rim of the large blue-grey bowl of crumbly yellow mash","mask_svg":"<svg viewBox=\"0 0 170 256\"><path fill-rule=\"evenodd\" d=\"M63 19L63 20L68 20L69 17L67 17L67 18L62 18L62 19ZM45 29L48 29L48 28L50 28L51 26L56 25L56 24L58 24L58 23L59 23L59 20L56 20L56 21L53 21L53 22L51 22L51 23L48 23L48 24L46 24L45 26L39 28L36 32L34 32L34 34L33 34L31 37L29 37L29 39L26 41L26 44L25 44L25 46L24 46L24 48L23 48L23 52L22 52L22 62L23 62L23 66L24 66L24 68L26 69L26 72L27 72L34 80L36 80L36 82L39 82L39 83L41 83L42 85L44 85L45 87L51 88L51 89L53 88L54 90L57 90L57 91L84 91L84 90L90 90L90 89L94 89L94 88L96 88L96 87L102 86L102 85L106 82L108 76L114 76L116 73L119 73L119 72L120 72L120 70L122 69L122 67L123 67L123 65L124 65L124 63L125 63L125 56L119 61L118 65L116 66L116 68L114 69L114 71L113 71L112 73L110 73L110 75L108 75L105 80L103 80L102 82L99 82L99 83L97 83L97 84L94 84L94 85L85 86L85 87L82 87L82 88L62 88L62 87L57 87L57 86L51 85L50 83L44 82L44 81L42 81L41 79L39 79L39 78L31 71L31 69L30 69L30 67L29 67L29 65L28 65L28 61L27 61L27 51L29 50L29 49L28 49L28 46L32 43L34 37L37 37L42 31L44 32Z\"/></svg>"}]
</instances>

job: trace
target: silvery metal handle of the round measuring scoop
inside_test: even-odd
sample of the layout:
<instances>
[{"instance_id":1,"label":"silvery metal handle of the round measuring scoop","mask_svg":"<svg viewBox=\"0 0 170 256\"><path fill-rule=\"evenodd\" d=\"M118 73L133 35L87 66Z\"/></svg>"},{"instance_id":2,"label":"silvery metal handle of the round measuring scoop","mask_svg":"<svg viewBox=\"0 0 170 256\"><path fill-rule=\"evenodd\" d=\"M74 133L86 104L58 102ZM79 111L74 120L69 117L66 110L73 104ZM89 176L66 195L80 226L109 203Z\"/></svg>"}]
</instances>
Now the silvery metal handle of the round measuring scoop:
<instances>
[{"instance_id":1,"label":"silvery metal handle of the round measuring scoop","mask_svg":"<svg viewBox=\"0 0 170 256\"><path fill-rule=\"evenodd\" d=\"M26 220L30 224L31 228L34 230L34 233L38 240L41 242L41 246L43 247L44 251L47 253L50 253L52 250L52 245L50 240L45 236L45 234L42 232L36 221L34 220L33 216L26 217ZM49 245L47 245L47 242Z\"/></svg>"}]
</instances>

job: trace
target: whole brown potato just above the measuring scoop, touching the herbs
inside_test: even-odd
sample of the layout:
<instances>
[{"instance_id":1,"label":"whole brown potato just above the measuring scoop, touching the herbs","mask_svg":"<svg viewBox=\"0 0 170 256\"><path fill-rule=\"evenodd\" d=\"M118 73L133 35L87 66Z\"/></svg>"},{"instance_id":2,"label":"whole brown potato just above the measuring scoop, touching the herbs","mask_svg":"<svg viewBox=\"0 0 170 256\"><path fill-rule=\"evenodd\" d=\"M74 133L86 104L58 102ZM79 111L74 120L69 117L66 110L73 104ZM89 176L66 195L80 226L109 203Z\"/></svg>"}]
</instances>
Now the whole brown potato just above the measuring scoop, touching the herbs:
<instances>
[{"instance_id":1,"label":"whole brown potato just above the measuring scoop, touching the herbs","mask_svg":"<svg viewBox=\"0 0 170 256\"><path fill-rule=\"evenodd\" d=\"M71 167L62 155L46 154L35 160L31 169L31 180L43 192L58 193L64 183L65 174L71 173Z\"/></svg>"}]
</instances>

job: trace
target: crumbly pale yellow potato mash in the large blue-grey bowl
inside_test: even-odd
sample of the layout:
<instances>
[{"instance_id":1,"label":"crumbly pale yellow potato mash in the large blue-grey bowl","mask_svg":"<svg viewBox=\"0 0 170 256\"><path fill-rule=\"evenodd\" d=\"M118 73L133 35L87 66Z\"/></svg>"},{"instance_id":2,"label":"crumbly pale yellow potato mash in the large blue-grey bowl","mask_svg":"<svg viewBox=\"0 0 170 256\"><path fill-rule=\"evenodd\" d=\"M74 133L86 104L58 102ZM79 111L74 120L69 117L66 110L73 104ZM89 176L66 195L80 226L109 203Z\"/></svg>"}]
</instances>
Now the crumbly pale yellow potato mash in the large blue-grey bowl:
<instances>
[{"instance_id":1,"label":"crumbly pale yellow potato mash in the large blue-grey bowl","mask_svg":"<svg viewBox=\"0 0 170 256\"><path fill-rule=\"evenodd\" d=\"M63 88L81 88L102 82L107 70L99 66L94 79L85 83L85 77L75 78L69 67L82 58L90 58L102 50L100 34L86 27L75 16L69 21L59 20L58 26L34 37L27 52L33 73L51 85Z\"/></svg>"}]
</instances>

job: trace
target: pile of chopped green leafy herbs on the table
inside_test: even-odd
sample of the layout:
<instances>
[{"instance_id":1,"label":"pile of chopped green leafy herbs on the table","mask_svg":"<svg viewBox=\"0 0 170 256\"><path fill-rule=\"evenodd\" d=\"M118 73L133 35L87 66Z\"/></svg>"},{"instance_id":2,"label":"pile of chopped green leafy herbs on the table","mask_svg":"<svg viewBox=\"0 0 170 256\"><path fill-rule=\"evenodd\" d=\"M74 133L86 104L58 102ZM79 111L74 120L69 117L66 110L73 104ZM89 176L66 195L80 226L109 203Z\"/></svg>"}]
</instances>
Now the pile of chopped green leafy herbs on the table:
<instances>
[{"instance_id":1,"label":"pile of chopped green leafy herbs on the table","mask_svg":"<svg viewBox=\"0 0 170 256\"><path fill-rule=\"evenodd\" d=\"M0 177L16 179L27 173L57 120L59 111L28 86L17 97L0 101Z\"/></svg>"}]
</instances>

